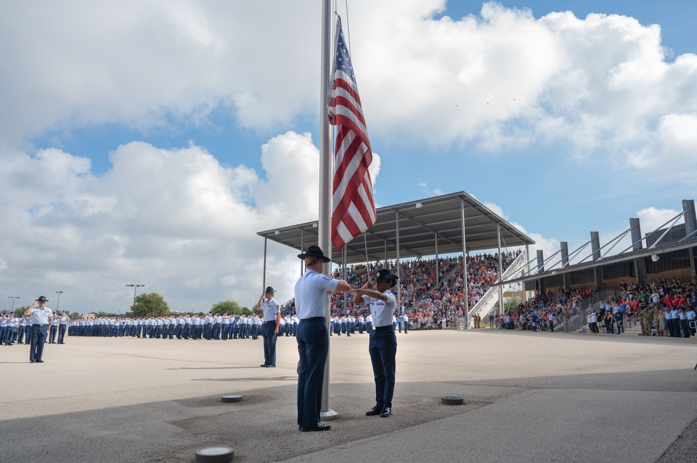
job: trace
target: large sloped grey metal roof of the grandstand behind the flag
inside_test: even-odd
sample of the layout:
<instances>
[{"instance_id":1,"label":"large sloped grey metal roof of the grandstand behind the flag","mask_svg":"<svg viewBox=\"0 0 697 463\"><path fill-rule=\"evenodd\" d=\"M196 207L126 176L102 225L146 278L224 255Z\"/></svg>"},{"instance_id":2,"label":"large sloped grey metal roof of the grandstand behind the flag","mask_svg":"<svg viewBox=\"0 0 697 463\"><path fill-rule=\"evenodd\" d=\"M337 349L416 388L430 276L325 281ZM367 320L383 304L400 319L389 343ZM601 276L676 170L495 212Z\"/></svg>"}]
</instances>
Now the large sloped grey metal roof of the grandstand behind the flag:
<instances>
[{"instance_id":1,"label":"large sloped grey metal roof of the grandstand behind the flag","mask_svg":"<svg viewBox=\"0 0 697 463\"><path fill-rule=\"evenodd\" d=\"M397 256L397 219L399 219L400 259L435 256L436 237L439 256L461 253L463 249L461 205L465 210L465 244L467 251L496 249L497 227L501 228L501 246L534 244L484 204L465 191L435 196L377 209L375 224L346 248L346 263L394 260ZM269 240L298 251L317 244L317 221L299 223L258 232ZM326 250L325 250L326 252ZM332 246L333 262L341 263L342 251Z\"/></svg>"}]
</instances>

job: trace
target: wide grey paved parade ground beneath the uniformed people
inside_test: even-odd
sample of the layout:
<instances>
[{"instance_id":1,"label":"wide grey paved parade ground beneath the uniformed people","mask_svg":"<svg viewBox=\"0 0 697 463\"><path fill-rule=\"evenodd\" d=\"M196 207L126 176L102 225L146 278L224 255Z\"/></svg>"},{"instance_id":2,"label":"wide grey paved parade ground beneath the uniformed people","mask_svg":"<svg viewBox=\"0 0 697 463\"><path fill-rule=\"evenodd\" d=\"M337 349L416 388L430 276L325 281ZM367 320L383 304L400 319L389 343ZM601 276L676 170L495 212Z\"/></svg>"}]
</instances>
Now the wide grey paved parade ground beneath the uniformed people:
<instances>
[{"instance_id":1,"label":"wide grey paved parade ground beneath the uniformed people","mask_svg":"<svg viewBox=\"0 0 697 463\"><path fill-rule=\"evenodd\" d=\"M297 427L297 344L66 337L0 347L0 461L694 462L697 340L479 329L397 333L393 415L368 336L332 336L329 432ZM242 395L223 403L222 395ZM464 405L442 405L442 396Z\"/></svg>"}]
</instances>

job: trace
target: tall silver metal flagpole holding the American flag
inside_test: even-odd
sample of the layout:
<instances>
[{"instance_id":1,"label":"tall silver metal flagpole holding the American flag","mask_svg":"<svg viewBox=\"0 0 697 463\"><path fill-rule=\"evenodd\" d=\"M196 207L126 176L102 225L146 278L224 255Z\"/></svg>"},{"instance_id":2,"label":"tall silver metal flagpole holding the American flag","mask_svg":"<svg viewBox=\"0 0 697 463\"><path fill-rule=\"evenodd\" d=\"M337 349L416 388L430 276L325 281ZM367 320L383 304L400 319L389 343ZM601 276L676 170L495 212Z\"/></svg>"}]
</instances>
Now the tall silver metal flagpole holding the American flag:
<instances>
[{"instance_id":1,"label":"tall silver metal flagpole holding the American flag","mask_svg":"<svg viewBox=\"0 0 697 463\"><path fill-rule=\"evenodd\" d=\"M331 0L322 1L322 61L320 66L320 215L317 230L317 244L324 255L331 258L331 179L332 158L329 136L329 119L327 117L327 93L331 74ZM324 264L324 274L331 274L331 264ZM331 317L331 300L327 297L327 332ZM328 348L329 349L329 348ZM320 418L332 420L338 418L338 412L329 408L329 350L324 364L324 382L322 384L322 409Z\"/></svg>"}]
</instances>

